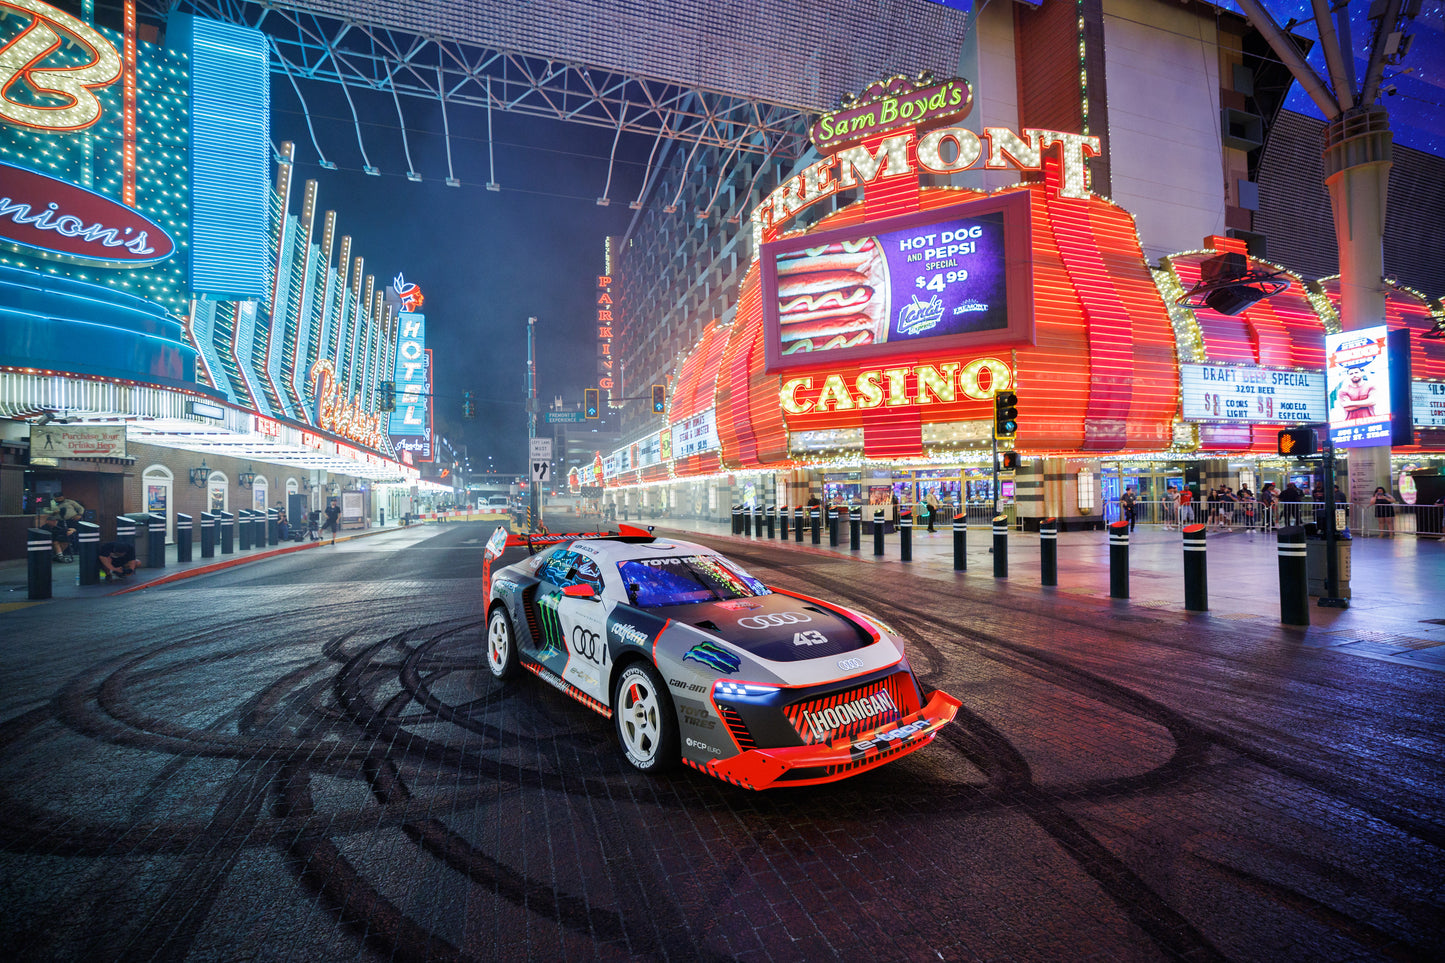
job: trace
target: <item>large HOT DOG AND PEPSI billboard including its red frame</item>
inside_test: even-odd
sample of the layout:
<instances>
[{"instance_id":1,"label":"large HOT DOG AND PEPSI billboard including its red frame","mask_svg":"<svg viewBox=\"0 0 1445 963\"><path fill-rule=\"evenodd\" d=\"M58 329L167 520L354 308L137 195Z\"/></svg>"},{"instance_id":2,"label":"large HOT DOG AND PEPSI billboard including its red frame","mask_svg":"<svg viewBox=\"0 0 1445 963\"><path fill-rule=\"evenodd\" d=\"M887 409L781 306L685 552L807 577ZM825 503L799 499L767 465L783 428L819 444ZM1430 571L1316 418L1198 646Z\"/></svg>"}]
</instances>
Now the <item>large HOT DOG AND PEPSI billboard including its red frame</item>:
<instances>
[{"instance_id":1,"label":"large HOT DOG AND PEPSI billboard including its red frame","mask_svg":"<svg viewBox=\"0 0 1445 963\"><path fill-rule=\"evenodd\" d=\"M1033 337L1029 194L763 244L769 370Z\"/></svg>"}]
</instances>

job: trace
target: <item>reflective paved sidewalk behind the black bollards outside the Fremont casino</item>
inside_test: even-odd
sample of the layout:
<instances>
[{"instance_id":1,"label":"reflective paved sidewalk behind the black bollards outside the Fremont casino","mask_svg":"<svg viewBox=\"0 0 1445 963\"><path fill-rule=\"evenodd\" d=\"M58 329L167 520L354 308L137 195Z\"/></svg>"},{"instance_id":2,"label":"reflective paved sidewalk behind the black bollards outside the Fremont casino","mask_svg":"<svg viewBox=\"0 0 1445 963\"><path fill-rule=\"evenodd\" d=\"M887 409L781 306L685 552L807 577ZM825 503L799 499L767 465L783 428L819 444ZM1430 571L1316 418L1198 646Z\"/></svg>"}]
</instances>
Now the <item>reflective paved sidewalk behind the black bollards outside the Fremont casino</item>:
<instances>
[{"instance_id":1,"label":"reflective paved sidewalk behind the black bollards outside the Fremont casino","mask_svg":"<svg viewBox=\"0 0 1445 963\"><path fill-rule=\"evenodd\" d=\"M1009 532L1009 577L994 578L993 532L971 528L967 534L967 571L954 571L954 534L942 528L929 534L926 526L913 529L913 561L899 557L899 536L889 534L884 554L873 554L873 538L863 534L860 551L848 549L848 529L840 526L838 548L828 547L824 525L821 544L812 544L805 529L803 542L789 526L786 545L780 539L733 535L728 522L692 519L656 519L644 522L681 536L708 535L740 545L756 542L788 551L845 555L876 562L889 570L879 578L932 578L970 588L990 588L1010 596L1036 593L1097 599L1114 613L1129 607L1176 610L1183 613L1183 549L1178 531L1140 525L1130 534L1127 600L1108 597L1108 532L1059 532L1058 586L1042 584L1039 536L1033 532ZM1207 613L1199 619L1260 619L1279 623L1279 554L1272 534L1212 529L1208 545ZM1396 651L1412 665L1445 671L1445 544L1418 538L1357 538L1351 542L1350 607L1324 609L1311 599L1306 642L1311 645L1368 643L1381 655ZM1394 659L1392 659L1394 661Z\"/></svg>"}]
</instances>

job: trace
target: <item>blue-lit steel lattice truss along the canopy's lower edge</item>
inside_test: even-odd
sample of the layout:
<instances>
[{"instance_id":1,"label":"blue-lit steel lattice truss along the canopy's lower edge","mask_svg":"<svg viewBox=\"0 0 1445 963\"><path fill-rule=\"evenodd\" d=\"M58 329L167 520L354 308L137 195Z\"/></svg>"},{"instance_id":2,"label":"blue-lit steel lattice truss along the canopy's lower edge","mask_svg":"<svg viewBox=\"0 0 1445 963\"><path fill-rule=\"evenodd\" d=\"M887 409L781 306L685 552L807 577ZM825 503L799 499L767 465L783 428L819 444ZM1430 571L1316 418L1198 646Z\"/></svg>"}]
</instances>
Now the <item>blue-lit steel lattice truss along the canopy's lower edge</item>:
<instances>
[{"instance_id":1,"label":"blue-lit steel lattice truss along the canopy's lower edge","mask_svg":"<svg viewBox=\"0 0 1445 963\"><path fill-rule=\"evenodd\" d=\"M263 30L272 40L272 69L293 81L328 81L420 97L445 108L504 110L782 160L808 149L811 114L796 107L247 0L181 0L175 6Z\"/></svg>"}]
</instances>

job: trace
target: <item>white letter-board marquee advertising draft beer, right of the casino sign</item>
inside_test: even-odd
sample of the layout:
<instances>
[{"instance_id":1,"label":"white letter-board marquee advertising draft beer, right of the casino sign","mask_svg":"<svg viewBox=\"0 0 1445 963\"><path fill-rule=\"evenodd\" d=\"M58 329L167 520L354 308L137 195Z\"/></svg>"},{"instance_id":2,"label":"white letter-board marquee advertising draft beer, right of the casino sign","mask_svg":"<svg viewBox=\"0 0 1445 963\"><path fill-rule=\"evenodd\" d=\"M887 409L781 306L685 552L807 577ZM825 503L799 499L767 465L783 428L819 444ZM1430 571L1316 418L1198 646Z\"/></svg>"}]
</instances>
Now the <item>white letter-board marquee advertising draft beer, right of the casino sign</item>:
<instances>
[{"instance_id":1,"label":"white letter-board marquee advertising draft beer, right of the casino sign","mask_svg":"<svg viewBox=\"0 0 1445 963\"><path fill-rule=\"evenodd\" d=\"M1247 364L1181 364L1185 421L1324 422L1325 376Z\"/></svg>"}]
</instances>

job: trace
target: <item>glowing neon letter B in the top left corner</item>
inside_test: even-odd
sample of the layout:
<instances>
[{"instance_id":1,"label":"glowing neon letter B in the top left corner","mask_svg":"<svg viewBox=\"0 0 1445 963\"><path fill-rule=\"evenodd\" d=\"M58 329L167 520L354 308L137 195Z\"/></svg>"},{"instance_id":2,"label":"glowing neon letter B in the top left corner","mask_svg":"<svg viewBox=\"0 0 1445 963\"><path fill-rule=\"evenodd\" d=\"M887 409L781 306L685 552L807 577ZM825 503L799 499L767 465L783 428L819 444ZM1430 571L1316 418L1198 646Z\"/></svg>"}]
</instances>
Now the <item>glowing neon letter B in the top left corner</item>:
<instances>
[{"instance_id":1,"label":"glowing neon letter B in the top left corner","mask_svg":"<svg viewBox=\"0 0 1445 963\"><path fill-rule=\"evenodd\" d=\"M0 48L0 120L49 132L84 130L100 120L94 90L114 84L121 74L114 45L82 20L39 0L0 0L0 12L30 20ZM81 48L87 61L46 67L66 42ZM14 94L26 87L38 94L35 103L16 100Z\"/></svg>"}]
</instances>

